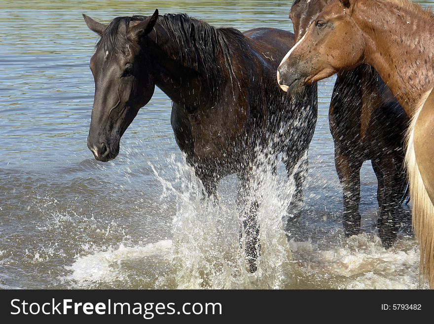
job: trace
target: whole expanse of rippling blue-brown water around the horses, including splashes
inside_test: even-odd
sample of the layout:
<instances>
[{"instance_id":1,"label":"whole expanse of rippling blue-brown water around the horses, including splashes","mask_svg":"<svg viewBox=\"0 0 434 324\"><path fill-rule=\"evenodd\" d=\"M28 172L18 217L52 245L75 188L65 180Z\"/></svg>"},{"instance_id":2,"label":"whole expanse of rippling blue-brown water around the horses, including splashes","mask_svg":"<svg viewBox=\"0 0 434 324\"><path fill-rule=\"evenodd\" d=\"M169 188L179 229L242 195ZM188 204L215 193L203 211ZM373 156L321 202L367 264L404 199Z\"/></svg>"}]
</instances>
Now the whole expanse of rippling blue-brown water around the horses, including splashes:
<instances>
[{"instance_id":1,"label":"whole expanse of rippling blue-brown water around the horses, including splashes","mask_svg":"<svg viewBox=\"0 0 434 324\"><path fill-rule=\"evenodd\" d=\"M363 233L349 239L328 130L334 78L320 83L306 207L285 233L292 184L260 173L258 271L238 247L234 177L218 204L200 199L158 89L121 141L97 162L86 137L97 36L81 13L186 12L215 26L292 30L290 1L0 0L0 288L420 288L419 251L400 234L385 251L373 230L376 180L362 169ZM425 288L426 286L422 286Z\"/></svg>"}]
</instances>

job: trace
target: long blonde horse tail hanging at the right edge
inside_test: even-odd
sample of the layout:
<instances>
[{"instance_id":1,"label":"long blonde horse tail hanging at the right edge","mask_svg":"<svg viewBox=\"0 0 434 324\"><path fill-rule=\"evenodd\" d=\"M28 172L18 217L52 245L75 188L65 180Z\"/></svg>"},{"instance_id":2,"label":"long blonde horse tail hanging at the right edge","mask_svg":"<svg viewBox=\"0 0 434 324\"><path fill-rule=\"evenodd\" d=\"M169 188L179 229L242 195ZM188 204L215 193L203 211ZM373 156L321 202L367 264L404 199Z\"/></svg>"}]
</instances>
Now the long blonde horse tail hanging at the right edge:
<instances>
[{"instance_id":1,"label":"long blonde horse tail hanging at the right edge","mask_svg":"<svg viewBox=\"0 0 434 324\"><path fill-rule=\"evenodd\" d=\"M423 101L425 102L425 101ZM414 128L423 104L411 119L407 134L407 152L405 162L410 186L411 212L413 229L419 239L420 266L419 280L428 281L434 288L434 206L419 172L414 152Z\"/></svg>"}]
</instances>

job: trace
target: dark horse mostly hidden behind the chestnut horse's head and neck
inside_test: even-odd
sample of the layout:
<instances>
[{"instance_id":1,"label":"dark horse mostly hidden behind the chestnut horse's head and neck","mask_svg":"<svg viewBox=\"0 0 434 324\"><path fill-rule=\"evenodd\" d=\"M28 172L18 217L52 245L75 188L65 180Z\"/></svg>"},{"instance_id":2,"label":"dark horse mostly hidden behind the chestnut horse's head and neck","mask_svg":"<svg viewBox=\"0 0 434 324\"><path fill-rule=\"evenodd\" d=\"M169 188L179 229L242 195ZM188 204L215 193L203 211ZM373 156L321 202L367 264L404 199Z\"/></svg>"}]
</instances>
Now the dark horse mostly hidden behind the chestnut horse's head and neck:
<instances>
[{"instance_id":1,"label":"dark horse mostly hidden behind the chestnut horse's head and neck","mask_svg":"<svg viewBox=\"0 0 434 324\"><path fill-rule=\"evenodd\" d=\"M289 18L295 42L304 36L329 2L293 2ZM363 162L370 160L378 182L377 229L383 246L388 248L395 242L401 224L410 221L401 206L407 193L404 142L409 118L378 74L367 65L337 73L328 118L343 191L345 234L360 232L360 170Z\"/></svg>"}]
</instances>

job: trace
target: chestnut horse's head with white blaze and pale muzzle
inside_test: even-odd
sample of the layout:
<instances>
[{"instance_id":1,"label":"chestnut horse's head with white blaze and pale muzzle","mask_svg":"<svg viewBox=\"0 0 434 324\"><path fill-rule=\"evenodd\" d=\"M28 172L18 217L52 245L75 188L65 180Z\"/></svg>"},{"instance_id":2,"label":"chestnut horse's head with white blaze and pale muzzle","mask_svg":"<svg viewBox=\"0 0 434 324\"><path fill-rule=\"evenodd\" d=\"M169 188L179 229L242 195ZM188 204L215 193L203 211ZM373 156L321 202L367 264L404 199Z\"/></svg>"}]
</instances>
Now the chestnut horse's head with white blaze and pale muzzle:
<instances>
[{"instance_id":1,"label":"chestnut horse's head with white blaze and pale muzzle","mask_svg":"<svg viewBox=\"0 0 434 324\"><path fill-rule=\"evenodd\" d=\"M351 17L356 4L357 0L334 0L315 18L277 70L284 91L299 93L307 84L362 63L365 41Z\"/></svg>"}]
</instances>

